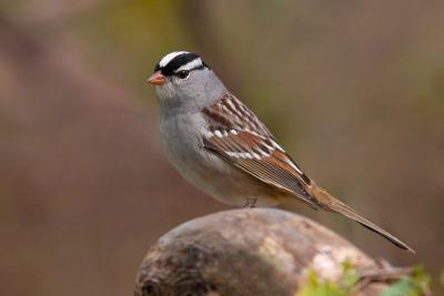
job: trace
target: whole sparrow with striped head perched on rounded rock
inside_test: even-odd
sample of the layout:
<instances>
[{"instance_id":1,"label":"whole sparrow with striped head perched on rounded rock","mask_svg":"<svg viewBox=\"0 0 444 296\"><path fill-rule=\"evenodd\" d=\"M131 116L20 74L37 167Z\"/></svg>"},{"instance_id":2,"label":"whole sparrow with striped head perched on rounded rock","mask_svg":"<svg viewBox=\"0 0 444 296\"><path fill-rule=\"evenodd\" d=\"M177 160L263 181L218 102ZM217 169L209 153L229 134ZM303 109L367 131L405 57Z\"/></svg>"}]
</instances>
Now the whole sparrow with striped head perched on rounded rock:
<instances>
[{"instance_id":1,"label":"whole sparrow with striped head perched on rounded rock","mask_svg":"<svg viewBox=\"0 0 444 296\"><path fill-rule=\"evenodd\" d=\"M169 161L204 193L232 206L300 201L342 214L415 253L309 177L199 54L168 53L147 81L155 89L160 139Z\"/></svg>"}]
</instances>

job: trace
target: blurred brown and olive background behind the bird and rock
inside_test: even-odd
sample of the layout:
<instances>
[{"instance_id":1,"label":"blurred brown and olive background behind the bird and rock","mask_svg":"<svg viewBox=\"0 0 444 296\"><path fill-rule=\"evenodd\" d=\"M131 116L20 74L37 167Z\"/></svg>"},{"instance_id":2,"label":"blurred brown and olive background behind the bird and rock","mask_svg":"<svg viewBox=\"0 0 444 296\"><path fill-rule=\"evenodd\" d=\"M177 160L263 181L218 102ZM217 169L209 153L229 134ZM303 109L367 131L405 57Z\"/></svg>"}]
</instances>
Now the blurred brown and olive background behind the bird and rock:
<instances>
[{"instance_id":1,"label":"blurred brown and olive background behind the bird and rock","mask_svg":"<svg viewBox=\"0 0 444 296\"><path fill-rule=\"evenodd\" d=\"M443 16L438 0L2 0L0 294L131 295L159 236L229 208L162 153L145 79L174 50L201 53L307 175L417 255L295 211L436 279Z\"/></svg>"}]
</instances>

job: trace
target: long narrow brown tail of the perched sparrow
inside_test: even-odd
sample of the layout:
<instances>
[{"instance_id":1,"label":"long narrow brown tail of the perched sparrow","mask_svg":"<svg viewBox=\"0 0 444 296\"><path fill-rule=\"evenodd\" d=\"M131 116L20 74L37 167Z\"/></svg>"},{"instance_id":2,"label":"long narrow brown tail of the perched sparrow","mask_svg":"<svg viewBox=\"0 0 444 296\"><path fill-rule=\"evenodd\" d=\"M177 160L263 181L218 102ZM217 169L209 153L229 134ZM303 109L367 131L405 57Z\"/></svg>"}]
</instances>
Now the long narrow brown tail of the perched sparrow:
<instances>
[{"instance_id":1,"label":"long narrow brown tail of the perched sparrow","mask_svg":"<svg viewBox=\"0 0 444 296\"><path fill-rule=\"evenodd\" d=\"M307 187L309 193L315 197L319 202L319 206L322 207L323 210L326 210L329 212L334 212L342 214L351 220L354 220L355 222L360 223L362 226L365 228L369 228L390 242L392 242L394 245L397 247L401 247L403 249L410 251L412 253L415 253L413 248L411 248L407 244L402 242L400 238L395 237L394 235L390 234L389 232L384 231L370 220L363 217L360 213L354 211L352 207L347 206L343 202L336 200L334 196L332 196L330 193L327 193L325 190L317 186L314 182L309 185Z\"/></svg>"}]
</instances>

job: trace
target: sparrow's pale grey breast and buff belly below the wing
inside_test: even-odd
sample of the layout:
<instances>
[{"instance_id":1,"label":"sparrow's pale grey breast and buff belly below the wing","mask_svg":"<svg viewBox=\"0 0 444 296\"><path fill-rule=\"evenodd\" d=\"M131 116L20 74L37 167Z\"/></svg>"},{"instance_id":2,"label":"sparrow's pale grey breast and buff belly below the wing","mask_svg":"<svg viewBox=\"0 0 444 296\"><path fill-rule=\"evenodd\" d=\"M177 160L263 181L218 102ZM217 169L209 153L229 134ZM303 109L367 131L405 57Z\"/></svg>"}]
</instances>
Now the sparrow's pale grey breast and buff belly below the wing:
<instances>
[{"instance_id":1,"label":"sparrow's pale grey breast and buff belly below the wing","mask_svg":"<svg viewBox=\"0 0 444 296\"><path fill-rule=\"evenodd\" d=\"M203 132L199 129L201 125L190 120L199 119L161 123L167 155L184 178L225 204L241 206L248 198L258 198L258 205L278 204L269 185L206 151L202 142Z\"/></svg>"}]
</instances>

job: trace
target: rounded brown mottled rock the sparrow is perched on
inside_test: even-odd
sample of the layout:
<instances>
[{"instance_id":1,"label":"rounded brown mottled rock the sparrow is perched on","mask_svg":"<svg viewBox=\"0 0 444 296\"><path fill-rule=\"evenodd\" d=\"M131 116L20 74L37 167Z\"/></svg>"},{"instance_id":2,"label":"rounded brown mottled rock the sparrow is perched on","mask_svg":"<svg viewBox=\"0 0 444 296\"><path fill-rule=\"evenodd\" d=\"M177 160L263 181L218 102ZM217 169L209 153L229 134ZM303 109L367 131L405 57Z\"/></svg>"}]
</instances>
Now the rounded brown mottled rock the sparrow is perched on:
<instances>
[{"instance_id":1,"label":"rounded brown mottled rock the sparrow is perched on","mask_svg":"<svg viewBox=\"0 0 444 296\"><path fill-rule=\"evenodd\" d=\"M142 262L134 295L297 295L310 271L335 280L344 261L379 268L311 220L272 208L233 210L163 235ZM379 295L383 287L372 283L359 295Z\"/></svg>"}]
</instances>

